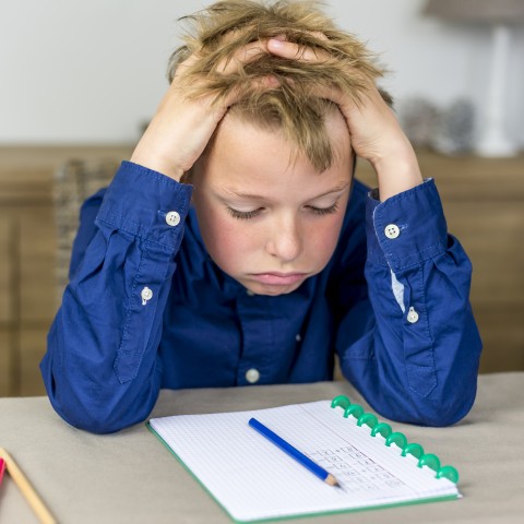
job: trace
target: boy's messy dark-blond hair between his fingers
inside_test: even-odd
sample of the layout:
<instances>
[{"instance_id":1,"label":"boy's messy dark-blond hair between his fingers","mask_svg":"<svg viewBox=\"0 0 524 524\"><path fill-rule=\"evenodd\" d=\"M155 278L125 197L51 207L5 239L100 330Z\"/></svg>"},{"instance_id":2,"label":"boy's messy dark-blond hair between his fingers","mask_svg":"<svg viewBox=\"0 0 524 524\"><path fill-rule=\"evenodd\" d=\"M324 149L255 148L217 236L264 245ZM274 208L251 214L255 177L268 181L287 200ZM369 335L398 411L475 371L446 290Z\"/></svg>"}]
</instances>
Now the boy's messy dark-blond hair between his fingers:
<instances>
[{"instance_id":1,"label":"boy's messy dark-blond hair between his fingers","mask_svg":"<svg viewBox=\"0 0 524 524\"><path fill-rule=\"evenodd\" d=\"M238 102L229 112L265 128L281 129L319 171L332 165L334 152L325 117L337 107L315 96L315 90L336 87L358 104L383 70L362 43L323 14L321 2L223 0L182 20L190 27L184 45L170 57L170 82L178 66L196 55L184 74L190 97L214 94L221 100L235 91ZM298 56L296 60L283 59L261 49L259 57L243 66L238 63L234 72L219 70L221 64L235 60L236 51L243 46L283 36L330 58L313 63L300 61ZM267 76L276 79L276 86L261 88L258 81Z\"/></svg>"}]
</instances>

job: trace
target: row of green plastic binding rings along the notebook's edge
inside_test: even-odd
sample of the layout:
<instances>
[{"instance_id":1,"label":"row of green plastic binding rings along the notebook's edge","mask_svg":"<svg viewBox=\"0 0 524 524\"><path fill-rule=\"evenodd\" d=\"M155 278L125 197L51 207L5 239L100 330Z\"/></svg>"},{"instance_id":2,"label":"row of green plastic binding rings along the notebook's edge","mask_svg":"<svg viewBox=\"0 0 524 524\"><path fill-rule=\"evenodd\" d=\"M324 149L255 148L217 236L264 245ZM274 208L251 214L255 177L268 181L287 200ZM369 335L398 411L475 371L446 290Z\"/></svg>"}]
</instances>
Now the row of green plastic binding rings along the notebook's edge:
<instances>
[{"instance_id":1,"label":"row of green plastic binding rings along the notebook's edge","mask_svg":"<svg viewBox=\"0 0 524 524\"><path fill-rule=\"evenodd\" d=\"M424 448L416 442L408 443L406 436L398 431L393 431L391 426L380 422L372 413L366 413L359 404L352 404L346 395L335 396L331 401L331 407L342 407L344 417L353 415L357 419L357 426L368 426L371 429L371 437L380 433L385 439L385 445L396 444L402 449L402 456L410 454L418 458L418 467L428 466L436 472L437 478L446 478L454 484L458 483L458 472L453 466L441 466L440 458L433 453L425 453Z\"/></svg>"}]
</instances>

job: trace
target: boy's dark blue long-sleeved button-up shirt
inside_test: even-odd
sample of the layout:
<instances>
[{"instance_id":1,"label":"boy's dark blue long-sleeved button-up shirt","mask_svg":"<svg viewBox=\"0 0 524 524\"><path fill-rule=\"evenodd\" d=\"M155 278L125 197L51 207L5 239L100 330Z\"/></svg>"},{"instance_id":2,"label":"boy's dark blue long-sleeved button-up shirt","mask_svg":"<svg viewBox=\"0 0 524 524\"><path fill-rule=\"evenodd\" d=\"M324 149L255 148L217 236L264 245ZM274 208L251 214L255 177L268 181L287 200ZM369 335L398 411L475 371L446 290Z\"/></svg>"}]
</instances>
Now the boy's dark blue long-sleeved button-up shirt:
<instances>
[{"instance_id":1,"label":"boy's dark blue long-sleeved button-up shirt","mask_svg":"<svg viewBox=\"0 0 524 524\"><path fill-rule=\"evenodd\" d=\"M276 297L211 260L191 191L124 162L84 203L40 365L68 422L117 431L146 418L160 388L330 380L335 353L388 418L442 426L469 410L481 347L472 267L432 180L383 203L355 181L326 267Z\"/></svg>"}]
</instances>

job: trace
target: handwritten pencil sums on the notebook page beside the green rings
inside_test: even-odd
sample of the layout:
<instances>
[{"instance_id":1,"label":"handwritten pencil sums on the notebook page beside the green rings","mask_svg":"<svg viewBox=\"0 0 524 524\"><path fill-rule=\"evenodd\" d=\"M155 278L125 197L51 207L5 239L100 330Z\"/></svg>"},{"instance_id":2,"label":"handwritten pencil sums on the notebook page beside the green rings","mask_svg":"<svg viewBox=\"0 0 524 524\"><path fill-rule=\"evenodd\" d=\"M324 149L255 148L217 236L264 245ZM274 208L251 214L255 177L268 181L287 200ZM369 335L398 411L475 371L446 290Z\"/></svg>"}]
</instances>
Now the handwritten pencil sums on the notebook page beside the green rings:
<instances>
[{"instance_id":1,"label":"handwritten pencil sums on the notebook page beside the green rings","mask_svg":"<svg viewBox=\"0 0 524 524\"><path fill-rule=\"evenodd\" d=\"M354 492L405 486L401 479L350 444L331 450L315 450L309 453L309 456Z\"/></svg>"}]
</instances>

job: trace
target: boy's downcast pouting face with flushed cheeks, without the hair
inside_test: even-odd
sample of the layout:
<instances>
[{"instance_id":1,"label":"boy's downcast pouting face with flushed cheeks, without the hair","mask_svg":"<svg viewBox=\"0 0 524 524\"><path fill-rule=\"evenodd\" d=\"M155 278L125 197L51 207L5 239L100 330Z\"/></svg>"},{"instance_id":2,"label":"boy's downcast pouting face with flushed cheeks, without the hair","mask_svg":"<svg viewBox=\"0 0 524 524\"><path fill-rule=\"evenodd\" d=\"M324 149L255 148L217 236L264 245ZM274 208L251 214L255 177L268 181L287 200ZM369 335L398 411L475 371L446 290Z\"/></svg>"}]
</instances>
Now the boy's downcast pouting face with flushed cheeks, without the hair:
<instances>
[{"instance_id":1,"label":"boy's downcast pouting face with flushed cheeks, without the hair","mask_svg":"<svg viewBox=\"0 0 524 524\"><path fill-rule=\"evenodd\" d=\"M326 127L335 150L319 174L293 160L277 131L227 115L193 169L193 203L215 263L258 295L282 295L326 265L347 206L353 154L344 118Z\"/></svg>"}]
</instances>

